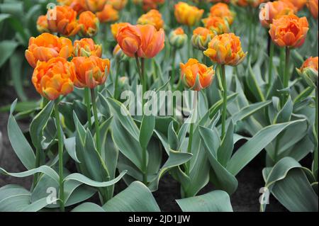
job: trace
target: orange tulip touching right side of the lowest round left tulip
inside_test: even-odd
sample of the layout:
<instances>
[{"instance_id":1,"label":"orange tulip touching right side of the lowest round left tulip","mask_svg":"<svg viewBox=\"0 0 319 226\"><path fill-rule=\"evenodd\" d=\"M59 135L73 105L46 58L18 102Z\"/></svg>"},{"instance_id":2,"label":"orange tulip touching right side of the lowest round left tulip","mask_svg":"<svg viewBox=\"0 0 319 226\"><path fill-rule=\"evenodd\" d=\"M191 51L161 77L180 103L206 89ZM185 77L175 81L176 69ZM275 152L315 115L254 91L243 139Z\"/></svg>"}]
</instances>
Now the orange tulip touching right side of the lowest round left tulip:
<instances>
[{"instance_id":1,"label":"orange tulip touching right side of the lowest round left tulip","mask_svg":"<svg viewBox=\"0 0 319 226\"><path fill-rule=\"evenodd\" d=\"M74 57L72 62L76 68L77 81L74 85L79 88L94 87L103 84L110 72L110 61L100 57Z\"/></svg>"}]
</instances>

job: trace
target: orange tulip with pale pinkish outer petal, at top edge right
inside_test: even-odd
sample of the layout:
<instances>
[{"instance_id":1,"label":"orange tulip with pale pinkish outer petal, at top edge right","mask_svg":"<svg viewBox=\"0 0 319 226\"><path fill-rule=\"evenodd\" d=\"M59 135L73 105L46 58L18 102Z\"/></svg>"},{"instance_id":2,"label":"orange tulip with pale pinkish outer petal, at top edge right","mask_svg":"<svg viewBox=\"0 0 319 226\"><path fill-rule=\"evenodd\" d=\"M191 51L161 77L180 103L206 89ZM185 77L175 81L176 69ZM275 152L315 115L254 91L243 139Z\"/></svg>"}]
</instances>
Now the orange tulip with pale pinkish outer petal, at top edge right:
<instances>
[{"instance_id":1,"label":"orange tulip with pale pinkish outer petal, at top edge right","mask_svg":"<svg viewBox=\"0 0 319 226\"><path fill-rule=\"evenodd\" d=\"M296 12L295 6L289 1L268 1L259 12L259 21L262 26L269 28L269 25L274 19L284 15L293 14Z\"/></svg>"}]
</instances>

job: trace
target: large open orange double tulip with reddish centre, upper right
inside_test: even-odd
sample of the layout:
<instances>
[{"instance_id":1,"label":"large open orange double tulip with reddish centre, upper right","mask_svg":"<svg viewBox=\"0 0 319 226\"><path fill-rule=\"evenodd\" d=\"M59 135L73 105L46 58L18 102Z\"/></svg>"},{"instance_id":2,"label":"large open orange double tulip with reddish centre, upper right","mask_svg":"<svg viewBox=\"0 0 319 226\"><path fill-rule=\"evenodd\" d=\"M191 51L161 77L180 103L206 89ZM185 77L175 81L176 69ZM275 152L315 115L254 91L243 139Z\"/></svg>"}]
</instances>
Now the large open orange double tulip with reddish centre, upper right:
<instances>
[{"instance_id":1,"label":"large open orange double tulip with reddish centre, upper right","mask_svg":"<svg viewBox=\"0 0 319 226\"><path fill-rule=\"evenodd\" d=\"M308 30L307 18L298 18L292 14L274 20L270 25L269 34L276 45L294 48L303 45Z\"/></svg>"}]
</instances>

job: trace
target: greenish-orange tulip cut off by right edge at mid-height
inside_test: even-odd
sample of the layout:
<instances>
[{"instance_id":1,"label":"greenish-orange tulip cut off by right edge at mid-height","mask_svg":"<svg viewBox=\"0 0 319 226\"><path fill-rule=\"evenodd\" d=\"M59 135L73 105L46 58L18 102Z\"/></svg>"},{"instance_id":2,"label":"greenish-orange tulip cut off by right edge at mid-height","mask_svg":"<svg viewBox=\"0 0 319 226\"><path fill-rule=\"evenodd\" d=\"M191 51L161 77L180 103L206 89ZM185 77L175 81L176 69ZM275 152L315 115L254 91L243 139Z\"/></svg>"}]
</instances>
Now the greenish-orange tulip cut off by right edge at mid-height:
<instances>
[{"instance_id":1,"label":"greenish-orange tulip cut off by right edge at mid-height","mask_svg":"<svg viewBox=\"0 0 319 226\"><path fill-rule=\"evenodd\" d=\"M296 69L298 74L305 79L312 87L318 86L318 57L308 58L300 69ZM318 87L317 87L318 88Z\"/></svg>"}]
</instances>

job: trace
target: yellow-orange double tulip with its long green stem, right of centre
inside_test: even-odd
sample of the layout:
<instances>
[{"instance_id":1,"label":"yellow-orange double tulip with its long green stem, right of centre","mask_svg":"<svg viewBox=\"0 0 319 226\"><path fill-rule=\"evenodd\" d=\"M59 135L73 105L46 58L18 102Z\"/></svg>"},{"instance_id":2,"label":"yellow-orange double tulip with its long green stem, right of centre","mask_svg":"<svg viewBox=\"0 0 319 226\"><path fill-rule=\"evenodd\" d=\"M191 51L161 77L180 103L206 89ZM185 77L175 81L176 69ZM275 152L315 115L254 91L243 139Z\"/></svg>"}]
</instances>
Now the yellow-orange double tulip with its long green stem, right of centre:
<instances>
[{"instance_id":1,"label":"yellow-orange double tulip with its long green stem, right of centre","mask_svg":"<svg viewBox=\"0 0 319 226\"><path fill-rule=\"evenodd\" d=\"M215 36L208 44L208 49L204 55L210 57L213 62L220 64L221 83L223 85L223 112L222 112L222 135L225 137L226 115L227 115L227 83L225 75L225 65L237 66L246 57L247 53L242 51L240 38L233 33Z\"/></svg>"}]
</instances>

